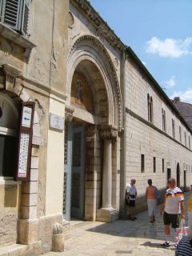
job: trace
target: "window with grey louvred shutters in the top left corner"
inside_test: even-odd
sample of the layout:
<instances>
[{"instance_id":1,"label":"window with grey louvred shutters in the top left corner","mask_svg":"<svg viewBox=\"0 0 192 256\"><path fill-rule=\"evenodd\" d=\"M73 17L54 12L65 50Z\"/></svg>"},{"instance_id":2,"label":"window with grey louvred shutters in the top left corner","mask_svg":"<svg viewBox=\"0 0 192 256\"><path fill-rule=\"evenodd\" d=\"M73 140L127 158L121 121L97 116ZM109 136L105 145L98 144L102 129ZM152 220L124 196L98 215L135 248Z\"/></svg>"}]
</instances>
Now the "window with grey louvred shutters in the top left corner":
<instances>
[{"instance_id":1,"label":"window with grey louvred shutters in the top left corner","mask_svg":"<svg viewBox=\"0 0 192 256\"><path fill-rule=\"evenodd\" d=\"M1 2L1 22L21 34L27 34L31 0L0 0L0 4Z\"/></svg>"}]
</instances>

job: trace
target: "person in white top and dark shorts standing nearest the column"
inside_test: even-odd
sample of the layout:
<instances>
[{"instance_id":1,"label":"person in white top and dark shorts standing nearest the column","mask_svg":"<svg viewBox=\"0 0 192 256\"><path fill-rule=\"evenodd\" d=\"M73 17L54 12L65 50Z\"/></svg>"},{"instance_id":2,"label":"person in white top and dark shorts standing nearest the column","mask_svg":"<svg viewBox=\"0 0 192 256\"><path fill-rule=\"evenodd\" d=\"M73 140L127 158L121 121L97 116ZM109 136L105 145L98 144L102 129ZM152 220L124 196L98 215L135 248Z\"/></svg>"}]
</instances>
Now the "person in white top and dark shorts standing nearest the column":
<instances>
[{"instance_id":1,"label":"person in white top and dark shorts standing nearest the column","mask_svg":"<svg viewBox=\"0 0 192 256\"><path fill-rule=\"evenodd\" d=\"M135 186L136 180L134 178L131 179L130 184L126 187L126 202L129 206L130 210L130 219L134 221L137 219L134 217L134 207L135 207L135 199L137 198L137 189Z\"/></svg>"}]
</instances>

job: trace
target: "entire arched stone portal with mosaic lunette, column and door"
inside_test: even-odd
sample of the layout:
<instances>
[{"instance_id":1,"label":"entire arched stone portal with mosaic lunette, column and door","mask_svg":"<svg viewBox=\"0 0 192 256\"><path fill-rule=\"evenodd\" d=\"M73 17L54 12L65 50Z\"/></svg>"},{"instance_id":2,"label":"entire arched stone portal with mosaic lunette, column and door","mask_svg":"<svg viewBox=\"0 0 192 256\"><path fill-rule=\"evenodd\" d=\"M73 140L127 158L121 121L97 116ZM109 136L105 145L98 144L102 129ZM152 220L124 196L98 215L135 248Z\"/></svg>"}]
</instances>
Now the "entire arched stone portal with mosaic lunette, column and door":
<instances>
[{"instance_id":1,"label":"entire arched stone portal with mosaic lunette, column and door","mask_svg":"<svg viewBox=\"0 0 192 256\"><path fill-rule=\"evenodd\" d=\"M90 36L74 43L68 66L70 101L66 109L73 109L73 121L66 125L66 152L70 154L64 171L64 218L74 216L79 206L83 219L95 220L100 208L109 210L110 219L110 210L116 208L119 200L112 190L112 180L118 182L112 155L117 159L117 135L122 126L116 72L106 49ZM106 182L109 189L103 193Z\"/></svg>"}]
</instances>

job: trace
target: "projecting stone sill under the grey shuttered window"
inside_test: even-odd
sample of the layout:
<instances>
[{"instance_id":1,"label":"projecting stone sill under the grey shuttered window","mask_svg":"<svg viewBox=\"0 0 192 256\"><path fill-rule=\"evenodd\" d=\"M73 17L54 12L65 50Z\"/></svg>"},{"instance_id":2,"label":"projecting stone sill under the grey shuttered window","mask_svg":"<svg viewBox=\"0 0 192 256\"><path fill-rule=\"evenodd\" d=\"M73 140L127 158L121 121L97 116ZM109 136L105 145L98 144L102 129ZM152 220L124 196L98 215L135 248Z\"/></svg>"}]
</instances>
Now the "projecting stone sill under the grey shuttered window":
<instances>
[{"instance_id":1,"label":"projecting stone sill under the grey shuttered window","mask_svg":"<svg viewBox=\"0 0 192 256\"><path fill-rule=\"evenodd\" d=\"M11 42L16 43L18 46L22 46L26 50L32 50L36 45L30 42L27 38L24 38L21 34L11 30L9 27L0 23L0 34L2 37L9 39Z\"/></svg>"}]
</instances>

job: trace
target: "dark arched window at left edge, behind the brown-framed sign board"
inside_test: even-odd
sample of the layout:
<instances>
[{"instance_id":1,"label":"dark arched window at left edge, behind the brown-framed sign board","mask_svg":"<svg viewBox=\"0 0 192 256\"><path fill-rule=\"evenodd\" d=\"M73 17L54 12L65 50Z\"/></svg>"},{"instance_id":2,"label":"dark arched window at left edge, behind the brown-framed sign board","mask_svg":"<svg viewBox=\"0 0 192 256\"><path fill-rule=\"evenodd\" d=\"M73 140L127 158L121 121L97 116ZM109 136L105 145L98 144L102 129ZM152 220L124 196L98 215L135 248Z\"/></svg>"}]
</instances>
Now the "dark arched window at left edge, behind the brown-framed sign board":
<instances>
[{"instance_id":1,"label":"dark arched window at left edge, behind the brown-framed sign board","mask_svg":"<svg viewBox=\"0 0 192 256\"><path fill-rule=\"evenodd\" d=\"M14 101L0 93L0 176L13 177L17 150L18 110Z\"/></svg>"}]
</instances>

